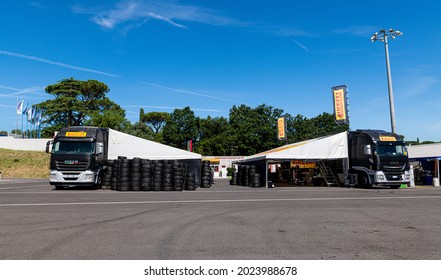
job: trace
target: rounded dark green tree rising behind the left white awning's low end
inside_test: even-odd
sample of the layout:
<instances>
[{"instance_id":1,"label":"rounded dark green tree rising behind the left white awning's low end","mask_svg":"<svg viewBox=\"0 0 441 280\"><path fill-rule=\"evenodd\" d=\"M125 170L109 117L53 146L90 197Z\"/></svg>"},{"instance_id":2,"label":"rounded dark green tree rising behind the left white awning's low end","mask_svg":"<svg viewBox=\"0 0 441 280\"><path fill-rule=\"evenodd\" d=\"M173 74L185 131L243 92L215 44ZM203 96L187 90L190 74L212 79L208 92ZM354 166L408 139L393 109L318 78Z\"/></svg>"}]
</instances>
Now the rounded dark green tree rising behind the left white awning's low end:
<instances>
[{"instance_id":1,"label":"rounded dark green tree rising behind the left white awning's low end","mask_svg":"<svg viewBox=\"0 0 441 280\"><path fill-rule=\"evenodd\" d=\"M187 141L195 141L197 136L197 119L190 107L175 109L163 129L165 144L186 149Z\"/></svg>"}]
</instances>

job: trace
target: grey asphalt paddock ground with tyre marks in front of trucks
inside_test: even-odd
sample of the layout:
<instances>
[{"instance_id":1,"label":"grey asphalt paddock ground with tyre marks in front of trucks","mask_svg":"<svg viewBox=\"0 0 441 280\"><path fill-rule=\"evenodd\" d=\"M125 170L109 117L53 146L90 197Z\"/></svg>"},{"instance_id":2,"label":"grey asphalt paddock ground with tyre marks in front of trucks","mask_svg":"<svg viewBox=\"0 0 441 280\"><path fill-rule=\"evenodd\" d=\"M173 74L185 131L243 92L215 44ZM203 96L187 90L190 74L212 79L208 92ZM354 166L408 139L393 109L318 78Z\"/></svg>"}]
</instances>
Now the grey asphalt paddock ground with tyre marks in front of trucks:
<instances>
[{"instance_id":1,"label":"grey asphalt paddock ground with tyre marks in front of trucks","mask_svg":"<svg viewBox=\"0 0 441 280\"><path fill-rule=\"evenodd\" d=\"M0 259L441 259L439 188L55 190L0 180Z\"/></svg>"}]
</instances>

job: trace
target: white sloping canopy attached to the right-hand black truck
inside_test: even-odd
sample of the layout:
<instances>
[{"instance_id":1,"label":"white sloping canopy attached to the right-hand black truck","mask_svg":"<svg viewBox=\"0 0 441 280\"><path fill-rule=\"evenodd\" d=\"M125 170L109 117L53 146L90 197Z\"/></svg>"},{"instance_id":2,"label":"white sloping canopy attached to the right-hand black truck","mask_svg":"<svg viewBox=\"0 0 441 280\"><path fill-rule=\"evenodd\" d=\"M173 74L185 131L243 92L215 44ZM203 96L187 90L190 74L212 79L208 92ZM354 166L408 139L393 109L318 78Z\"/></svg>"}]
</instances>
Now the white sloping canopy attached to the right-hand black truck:
<instances>
[{"instance_id":1,"label":"white sloping canopy attached to the right-hand black truck","mask_svg":"<svg viewBox=\"0 0 441 280\"><path fill-rule=\"evenodd\" d=\"M238 162L258 160L333 160L348 157L348 133L310 139L298 143L288 144L266 152L246 157Z\"/></svg>"}]
</instances>

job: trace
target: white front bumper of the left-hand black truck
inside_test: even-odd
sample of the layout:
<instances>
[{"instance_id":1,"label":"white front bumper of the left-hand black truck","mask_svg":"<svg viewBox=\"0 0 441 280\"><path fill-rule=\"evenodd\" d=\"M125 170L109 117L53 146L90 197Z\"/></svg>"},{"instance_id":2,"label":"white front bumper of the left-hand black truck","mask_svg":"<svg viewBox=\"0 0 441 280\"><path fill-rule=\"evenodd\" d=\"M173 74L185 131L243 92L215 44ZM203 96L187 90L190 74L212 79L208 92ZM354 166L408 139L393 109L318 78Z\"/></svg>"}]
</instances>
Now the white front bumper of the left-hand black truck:
<instances>
[{"instance_id":1,"label":"white front bumper of the left-hand black truck","mask_svg":"<svg viewBox=\"0 0 441 280\"><path fill-rule=\"evenodd\" d=\"M95 184L95 179L95 173L89 170L82 172L52 170L49 174L49 184L54 186L92 186Z\"/></svg>"}]
</instances>

